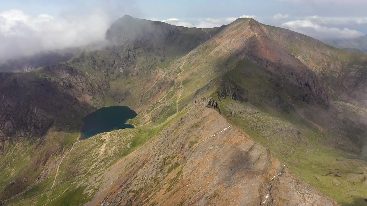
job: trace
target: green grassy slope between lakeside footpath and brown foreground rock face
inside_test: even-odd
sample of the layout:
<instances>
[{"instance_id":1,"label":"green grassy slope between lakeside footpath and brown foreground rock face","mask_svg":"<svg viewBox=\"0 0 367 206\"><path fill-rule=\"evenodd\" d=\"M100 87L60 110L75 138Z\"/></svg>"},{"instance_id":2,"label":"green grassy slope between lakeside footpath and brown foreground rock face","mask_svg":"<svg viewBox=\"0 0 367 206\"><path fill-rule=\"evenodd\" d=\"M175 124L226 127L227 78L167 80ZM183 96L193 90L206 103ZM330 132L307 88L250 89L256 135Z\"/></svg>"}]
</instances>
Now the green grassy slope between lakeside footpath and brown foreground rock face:
<instances>
[{"instance_id":1,"label":"green grassy slope between lakeside footpath and brown foreground rock face","mask_svg":"<svg viewBox=\"0 0 367 206\"><path fill-rule=\"evenodd\" d=\"M153 123L136 129L116 130L101 133L76 143L74 149L63 160L55 187L51 189L55 169L47 179L41 180L32 189L17 196L9 205L83 205L91 200L102 183L103 171L108 170L122 157L155 137L188 110L164 124ZM68 144L70 147L70 144ZM23 146L26 148L27 146ZM66 148L69 148L66 147ZM103 150L101 149L103 148ZM4 155L4 157L11 157ZM167 165L168 168L168 165ZM168 171L173 170L169 169ZM6 170L3 170L6 171ZM55 201L52 199L57 198Z\"/></svg>"}]
</instances>

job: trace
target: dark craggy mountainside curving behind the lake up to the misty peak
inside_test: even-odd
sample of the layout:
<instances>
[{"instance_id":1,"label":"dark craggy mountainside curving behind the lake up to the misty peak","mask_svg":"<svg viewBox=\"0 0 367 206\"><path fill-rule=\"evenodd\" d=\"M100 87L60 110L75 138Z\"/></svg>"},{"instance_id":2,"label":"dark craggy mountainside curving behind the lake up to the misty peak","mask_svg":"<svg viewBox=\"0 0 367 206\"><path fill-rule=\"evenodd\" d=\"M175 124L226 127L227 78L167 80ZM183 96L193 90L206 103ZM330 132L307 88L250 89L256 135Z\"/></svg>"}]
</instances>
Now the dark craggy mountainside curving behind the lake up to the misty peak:
<instances>
[{"instance_id":1,"label":"dark craggy mountainside curving behind the lake up to the misty peak","mask_svg":"<svg viewBox=\"0 0 367 206\"><path fill-rule=\"evenodd\" d=\"M0 73L3 100L0 102L0 152L5 141L43 136L55 122L60 129L77 129L81 117L105 106L106 102L128 106L146 104L170 84L166 71L160 68L169 62L166 57L176 58L209 36L198 28L124 16L110 27L106 38L111 45L104 50L83 51L70 62L44 66L26 74ZM63 59L52 54L51 57L56 57L50 57L49 61L45 55L40 55L39 61L36 57L32 61L53 63ZM17 64L12 65L17 67ZM132 93L131 88L135 88Z\"/></svg>"}]
</instances>

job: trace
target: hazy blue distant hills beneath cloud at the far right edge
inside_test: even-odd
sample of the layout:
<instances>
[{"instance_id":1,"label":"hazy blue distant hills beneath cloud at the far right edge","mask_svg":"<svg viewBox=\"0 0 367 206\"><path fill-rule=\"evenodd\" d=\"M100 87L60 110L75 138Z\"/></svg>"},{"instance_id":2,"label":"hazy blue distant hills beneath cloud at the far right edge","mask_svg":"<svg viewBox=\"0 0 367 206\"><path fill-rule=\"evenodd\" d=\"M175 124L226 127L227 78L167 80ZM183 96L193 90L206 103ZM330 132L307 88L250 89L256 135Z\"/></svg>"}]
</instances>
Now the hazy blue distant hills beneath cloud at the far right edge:
<instances>
[{"instance_id":1,"label":"hazy blue distant hills beneath cloud at the far right edge","mask_svg":"<svg viewBox=\"0 0 367 206\"><path fill-rule=\"evenodd\" d=\"M352 51L367 53L367 35L356 38L328 39L324 42L333 45L334 47L353 49Z\"/></svg>"}]
</instances>

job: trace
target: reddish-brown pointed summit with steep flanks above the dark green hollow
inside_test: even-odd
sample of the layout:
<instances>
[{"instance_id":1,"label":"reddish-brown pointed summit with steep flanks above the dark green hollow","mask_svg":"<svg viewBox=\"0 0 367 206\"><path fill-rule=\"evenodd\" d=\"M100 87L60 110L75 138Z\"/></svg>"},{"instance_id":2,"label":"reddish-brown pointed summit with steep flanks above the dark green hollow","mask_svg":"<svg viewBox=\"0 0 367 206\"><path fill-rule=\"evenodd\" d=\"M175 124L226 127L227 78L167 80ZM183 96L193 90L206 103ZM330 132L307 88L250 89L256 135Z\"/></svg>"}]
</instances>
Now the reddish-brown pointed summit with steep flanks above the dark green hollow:
<instances>
[{"instance_id":1,"label":"reddish-brown pointed summit with steep flanks above the dark green hollow","mask_svg":"<svg viewBox=\"0 0 367 206\"><path fill-rule=\"evenodd\" d=\"M320 77L286 49L279 47L265 33L262 25L253 19L240 18L227 25L193 50L188 59L185 66L188 70L183 73L184 78L190 80L188 88L204 88L218 76L241 66L241 60L249 60L272 76L277 87L287 89L292 99L330 104L330 97ZM193 73L203 77L204 81L192 77Z\"/></svg>"}]
</instances>

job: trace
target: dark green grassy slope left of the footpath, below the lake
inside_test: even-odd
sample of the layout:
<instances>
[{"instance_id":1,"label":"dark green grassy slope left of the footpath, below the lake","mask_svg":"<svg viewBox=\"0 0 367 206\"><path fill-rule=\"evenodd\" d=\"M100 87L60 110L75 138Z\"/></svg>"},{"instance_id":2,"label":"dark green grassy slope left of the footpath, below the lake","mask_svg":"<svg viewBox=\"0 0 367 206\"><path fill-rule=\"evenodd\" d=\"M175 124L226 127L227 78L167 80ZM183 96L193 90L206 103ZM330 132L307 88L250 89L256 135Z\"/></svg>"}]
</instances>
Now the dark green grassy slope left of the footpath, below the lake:
<instances>
[{"instance_id":1,"label":"dark green grassy slope left of the footpath, below the lake","mask_svg":"<svg viewBox=\"0 0 367 206\"><path fill-rule=\"evenodd\" d=\"M4 191L0 199L7 199L34 183L44 166L55 161L59 152L69 148L78 136L79 133L51 130L41 139L34 137L33 142L10 143L0 157L0 190Z\"/></svg>"}]
</instances>

